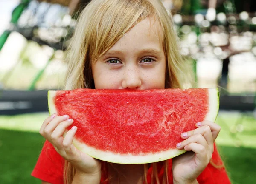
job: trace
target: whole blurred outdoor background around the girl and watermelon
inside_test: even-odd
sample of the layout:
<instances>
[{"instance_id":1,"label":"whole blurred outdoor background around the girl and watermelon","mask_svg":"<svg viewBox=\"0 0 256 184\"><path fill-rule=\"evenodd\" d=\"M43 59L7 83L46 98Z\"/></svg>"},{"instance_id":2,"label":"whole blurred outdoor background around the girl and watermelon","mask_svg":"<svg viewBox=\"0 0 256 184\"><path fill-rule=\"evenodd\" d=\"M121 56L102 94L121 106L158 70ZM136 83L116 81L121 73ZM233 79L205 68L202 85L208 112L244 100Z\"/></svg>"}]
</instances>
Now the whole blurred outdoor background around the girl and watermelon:
<instances>
[{"instance_id":1,"label":"whole blurred outdoor background around the girl and watermelon","mask_svg":"<svg viewBox=\"0 0 256 184\"><path fill-rule=\"evenodd\" d=\"M47 90L61 89L64 51L89 0L0 0L0 183L30 176L44 139ZM163 0L199 88L219 88L216 143L233 184L256 183L256 4Z\"/></svg>"}]
</instances>

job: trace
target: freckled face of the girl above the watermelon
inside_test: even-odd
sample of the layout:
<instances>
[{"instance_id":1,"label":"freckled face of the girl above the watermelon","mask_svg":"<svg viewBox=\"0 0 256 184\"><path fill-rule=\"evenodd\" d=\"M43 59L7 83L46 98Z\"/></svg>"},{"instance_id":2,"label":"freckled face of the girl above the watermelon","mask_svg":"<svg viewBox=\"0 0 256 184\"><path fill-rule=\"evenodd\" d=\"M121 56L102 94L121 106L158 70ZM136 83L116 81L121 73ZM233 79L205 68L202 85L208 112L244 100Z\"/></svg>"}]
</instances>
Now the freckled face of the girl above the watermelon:
<instances>
[{"instance_id":1,"label":"freckled face of the girl above the watermelon","mask_svg":"<svg viewBox=\"0 0 256 184\"><path fill-rule=\"evenodd\" d=\"M166 59L160 24L147 18L116 42L93 65L96 89L165 87Z\"/></svg>"}]
</instances>

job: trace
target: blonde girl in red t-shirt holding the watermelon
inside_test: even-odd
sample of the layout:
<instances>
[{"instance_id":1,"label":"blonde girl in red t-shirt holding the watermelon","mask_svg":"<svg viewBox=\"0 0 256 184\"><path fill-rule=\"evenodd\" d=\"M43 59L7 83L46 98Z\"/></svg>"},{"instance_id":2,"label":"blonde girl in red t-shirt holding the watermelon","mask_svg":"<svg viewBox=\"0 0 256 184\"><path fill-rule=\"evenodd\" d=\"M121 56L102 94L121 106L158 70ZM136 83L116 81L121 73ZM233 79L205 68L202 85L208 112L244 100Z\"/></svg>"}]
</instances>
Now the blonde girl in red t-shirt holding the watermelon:
<instances>
[{"instance_id":1,"label":"blonde girl in red t-shirt holding the watermelon","mask_svg":"<svg viewBox=\"0 0 256 184\"><path fill-rule=\"evenodd\" d=\"M82 11L67 51L65 89L183 88L191 78L182 67L172 19L160 0L92 0ZM77 127L68 115L48 117L40 133L47 141L32 172L42 184L230 184L214 141L220 127L197 123L181 134L177 149L188 152L160 163L111 164L81 153ZM92 137L93 139L93 137ZM211 162L209 164L209 162Z\"/></svg>"}]
</instances>

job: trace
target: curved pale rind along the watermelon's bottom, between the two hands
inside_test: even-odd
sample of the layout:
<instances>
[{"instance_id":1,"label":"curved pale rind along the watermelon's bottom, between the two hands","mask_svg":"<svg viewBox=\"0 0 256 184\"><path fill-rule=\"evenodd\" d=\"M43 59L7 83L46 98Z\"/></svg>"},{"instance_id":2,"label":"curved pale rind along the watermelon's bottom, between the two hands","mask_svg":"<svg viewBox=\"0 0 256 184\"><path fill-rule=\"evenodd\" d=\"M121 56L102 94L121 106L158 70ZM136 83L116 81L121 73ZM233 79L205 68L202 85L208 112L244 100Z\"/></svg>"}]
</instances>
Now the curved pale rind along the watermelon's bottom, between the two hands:
<instances>
[{"instance_id":1,"label":"curved pale rind along the watermelon's bottom, between the two hands","mask_svg":"<svg viewBox=\"0 0 256 184\"><path fill-rule=\"evenodd\" d=\"M133 156L132 154L115 154L111 152L105 152L101 150L96 150L93 147L89 147L86 144L82 144L78 140L73 140L74 146L79 149L81 152L87 153L89 156L93 158L100 159L103 161L108 161L117 164L146 164L152 162L163 161L167 159L171 159L175 156L181 155L185 153L185 150L171 149L167 151L162 151L160 153L147 154L144 156Z\"/></svg>"}]
</instances>

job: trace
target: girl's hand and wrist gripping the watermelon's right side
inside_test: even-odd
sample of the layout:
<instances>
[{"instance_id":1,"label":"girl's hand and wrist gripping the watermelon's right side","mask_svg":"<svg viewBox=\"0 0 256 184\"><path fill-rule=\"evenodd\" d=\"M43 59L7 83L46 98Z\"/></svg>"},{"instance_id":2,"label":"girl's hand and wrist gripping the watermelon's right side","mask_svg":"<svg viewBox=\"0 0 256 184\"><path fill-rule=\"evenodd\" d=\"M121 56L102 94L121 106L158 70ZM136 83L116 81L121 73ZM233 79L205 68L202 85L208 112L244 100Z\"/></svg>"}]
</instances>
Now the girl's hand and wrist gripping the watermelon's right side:
<instances>
[{"instance_id":1,"label":"girl's hand and wrist gripping the watermelon's right side","mask_svg":"<svg viewBox=\"0 0 256 184\"><path fill-rule=\"evenodd\" d=\"M197 184L196 178L212 158L213 143L221 127L210 121L199 122L196 127L181 133L181 138L185 140L178 143L177 148L187 152L172 159L174 184Z\"/></svg>"}]
</instances>

